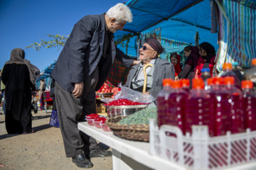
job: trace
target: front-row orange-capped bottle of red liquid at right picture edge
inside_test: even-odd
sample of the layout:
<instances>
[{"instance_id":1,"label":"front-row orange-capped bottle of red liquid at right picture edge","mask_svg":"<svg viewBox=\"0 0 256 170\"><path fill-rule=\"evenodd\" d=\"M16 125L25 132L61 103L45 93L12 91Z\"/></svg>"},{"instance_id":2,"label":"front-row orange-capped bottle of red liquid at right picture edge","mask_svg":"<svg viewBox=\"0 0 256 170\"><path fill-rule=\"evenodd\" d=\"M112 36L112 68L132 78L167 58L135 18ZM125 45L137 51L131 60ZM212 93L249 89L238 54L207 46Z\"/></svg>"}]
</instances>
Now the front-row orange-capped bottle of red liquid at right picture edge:
<instances>
[{"instance_id":1,"label":"front-row orange-capped bottle of red liquid at right picture edge","mask_svg":"<svg viewBox=\"0 0 256 170\"><path fill-rule=\"evenodd\" d=\"M256 130L256 94L250 80L242 81L242 94L245 107L245 128Z\"/></svg>"}]
</instances>

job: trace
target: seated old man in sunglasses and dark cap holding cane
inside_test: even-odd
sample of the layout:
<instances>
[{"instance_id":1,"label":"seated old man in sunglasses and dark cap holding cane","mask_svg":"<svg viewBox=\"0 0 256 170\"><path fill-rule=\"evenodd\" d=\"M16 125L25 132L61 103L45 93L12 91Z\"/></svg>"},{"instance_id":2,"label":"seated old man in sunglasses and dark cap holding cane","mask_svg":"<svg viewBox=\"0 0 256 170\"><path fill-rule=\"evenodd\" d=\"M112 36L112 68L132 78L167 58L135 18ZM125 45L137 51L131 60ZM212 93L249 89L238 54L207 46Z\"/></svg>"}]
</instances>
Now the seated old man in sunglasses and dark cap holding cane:
<instances>
[{"instance_id":1,"label":"seated old man in sunglasses and dark cap holding cane","mask_svg":"<svg viewBox=\"0 0 256 170\"><path fill-rule=\"evenodd\" d=\"M164 48L156 38L149 38L139 49L139 60L137 65L131 67L127 82L124 86L135 91L142 92L144 85L143 68L146 64L153 64L153 67L146 68L146 94L151 94L154 98L163 88L163 79L174 79L174 65L167 60L161 60L158 55L164 52Z\"/></svg>"}]
</instances>

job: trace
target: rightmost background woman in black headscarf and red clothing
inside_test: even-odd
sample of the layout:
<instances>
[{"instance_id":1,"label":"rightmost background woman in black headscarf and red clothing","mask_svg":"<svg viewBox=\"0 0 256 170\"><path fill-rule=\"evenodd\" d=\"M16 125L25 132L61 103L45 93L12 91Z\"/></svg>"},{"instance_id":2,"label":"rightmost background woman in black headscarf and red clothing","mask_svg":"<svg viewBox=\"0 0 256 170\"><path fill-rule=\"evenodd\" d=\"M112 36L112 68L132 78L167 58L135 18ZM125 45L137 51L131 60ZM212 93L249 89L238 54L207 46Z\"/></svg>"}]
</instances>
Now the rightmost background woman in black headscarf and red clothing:
<instances>
[{"instance_id":1,"label":"rightmost background woman in black headscarf and red clothing","mask_svg":"<svg viewBox=\"0 0 256 170\"><path fill-rule=\"evenodd\" d=\"M210 76L213 77L213 67L215 65L216 52L213 45L208 42L202 42L199 45L199 54L201 57L198 59L198 64L196 66L195 78L201 77L201 69L209 68Z\"/></svg>"}]
</instances>

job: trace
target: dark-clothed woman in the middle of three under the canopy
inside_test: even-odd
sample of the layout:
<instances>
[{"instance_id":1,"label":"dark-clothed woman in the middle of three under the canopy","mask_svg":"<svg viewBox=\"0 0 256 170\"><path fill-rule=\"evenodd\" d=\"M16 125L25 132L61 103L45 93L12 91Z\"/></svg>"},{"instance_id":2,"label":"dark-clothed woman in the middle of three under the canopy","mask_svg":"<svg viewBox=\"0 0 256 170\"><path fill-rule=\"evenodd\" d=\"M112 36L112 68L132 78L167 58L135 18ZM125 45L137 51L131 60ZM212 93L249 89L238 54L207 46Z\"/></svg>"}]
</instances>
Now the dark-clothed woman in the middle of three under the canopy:
<instances>
[{"instance_id":1,"label":"dark-clothed woman in the middle of three under the canopy","mask_svg":"<svg viewBox=\"0 0 256 170\"><path fill-rule=\"evenodd\" d=\"M185 57L187 57L184 69L181 71L175 79L189 79L192 85L192 79L196 74L196 66L200 57L199 48L196 46L188 45L184 47Z\"/></svg>"}]
</instances>

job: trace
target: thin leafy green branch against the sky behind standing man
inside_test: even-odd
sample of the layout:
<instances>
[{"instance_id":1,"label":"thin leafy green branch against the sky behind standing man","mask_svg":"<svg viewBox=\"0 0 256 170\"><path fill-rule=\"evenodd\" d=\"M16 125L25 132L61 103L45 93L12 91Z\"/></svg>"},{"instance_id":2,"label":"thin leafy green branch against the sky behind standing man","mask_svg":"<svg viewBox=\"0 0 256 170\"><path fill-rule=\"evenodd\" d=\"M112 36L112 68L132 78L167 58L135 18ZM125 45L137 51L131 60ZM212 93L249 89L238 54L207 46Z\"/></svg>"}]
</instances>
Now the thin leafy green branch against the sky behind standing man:
<instances>
[{"instance_id":1,"label":"thin leafy green branch against the sky behind standing man","mask_svg":"<svg viewBox=\"0 0 256 170\"><path fill-rule=\"evenodd\" d=\"M64 35L50 35L50 34L46 34L50 40L46 41L41 39L41 42L33 42L33 44L26 46L25 48L33 48L36 50L41 50L41 47L46 47L46 48L52 48L52 47L57 47L58 50L60 50L60 47L64 47L65 42L68 40L69 35L67 35L66 37Z\"/></svg>"}]
</instances>

